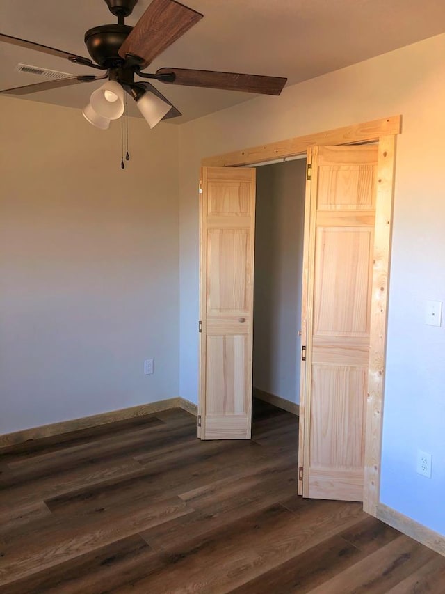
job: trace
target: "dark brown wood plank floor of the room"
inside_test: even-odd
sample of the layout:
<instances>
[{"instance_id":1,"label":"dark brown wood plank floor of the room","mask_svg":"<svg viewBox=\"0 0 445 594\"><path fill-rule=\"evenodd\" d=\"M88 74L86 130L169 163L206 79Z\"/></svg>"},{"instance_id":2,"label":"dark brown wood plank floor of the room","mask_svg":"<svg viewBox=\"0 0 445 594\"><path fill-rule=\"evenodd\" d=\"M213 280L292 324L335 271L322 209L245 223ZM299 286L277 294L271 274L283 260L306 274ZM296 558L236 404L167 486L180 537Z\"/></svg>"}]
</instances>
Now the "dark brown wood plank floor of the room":
<instances>
[{"instance_id":1,"label":"dark brown wood plank floor of the room","mask_svg":"<svg viewBox=\"0 0 445 594\"><path fill-rule=\"evenodd\" d=\"M296 417L195 435L175 409L3 454L0 593L445 593L444 557L296 495Z\"/></svg>"}]
</instances>

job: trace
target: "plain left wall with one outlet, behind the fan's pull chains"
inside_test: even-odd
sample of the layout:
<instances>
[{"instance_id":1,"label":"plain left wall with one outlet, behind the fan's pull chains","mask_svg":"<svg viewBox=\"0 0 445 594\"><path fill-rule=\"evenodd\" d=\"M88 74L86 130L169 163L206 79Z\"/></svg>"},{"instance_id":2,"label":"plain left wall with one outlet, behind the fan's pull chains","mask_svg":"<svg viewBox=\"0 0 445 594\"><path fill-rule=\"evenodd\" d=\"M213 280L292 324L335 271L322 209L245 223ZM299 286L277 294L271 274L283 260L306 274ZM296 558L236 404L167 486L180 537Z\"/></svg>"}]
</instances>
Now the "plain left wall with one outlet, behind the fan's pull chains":
<instances>
[{"instance_id":1,"label":"plain left wall with one outlet, behind the fan's pull chains","mask_svg":"<svg viewBox=\"0 0 445 594\"><path fill-rule=\"evenodd\" d=\"M178 130L129 126L0 99L0 433L179 395Z\"/></svg>"}]
</instances>

